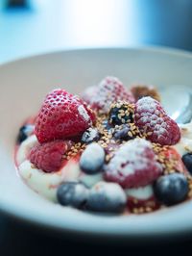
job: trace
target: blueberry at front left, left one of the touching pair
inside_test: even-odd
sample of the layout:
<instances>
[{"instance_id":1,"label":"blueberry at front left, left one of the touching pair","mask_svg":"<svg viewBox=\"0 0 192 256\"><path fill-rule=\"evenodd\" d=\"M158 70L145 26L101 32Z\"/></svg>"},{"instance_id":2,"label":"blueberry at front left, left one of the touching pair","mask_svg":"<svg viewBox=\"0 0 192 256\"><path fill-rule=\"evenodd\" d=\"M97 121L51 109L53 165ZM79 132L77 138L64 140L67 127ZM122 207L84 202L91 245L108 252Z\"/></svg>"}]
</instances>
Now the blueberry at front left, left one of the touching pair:
<instances>
[{"instance_id":1,"label":"blueberry at front left, left one of the touching pair","mask_svg":"<svg viewBox=\"0 0 192 256\"><path fill-rule=\"evenodd\" d=\"M57 198L61 205L83 209L88 197L88 189L83 183L66 182L60 185Z\"/></svg>"}]
</instances>

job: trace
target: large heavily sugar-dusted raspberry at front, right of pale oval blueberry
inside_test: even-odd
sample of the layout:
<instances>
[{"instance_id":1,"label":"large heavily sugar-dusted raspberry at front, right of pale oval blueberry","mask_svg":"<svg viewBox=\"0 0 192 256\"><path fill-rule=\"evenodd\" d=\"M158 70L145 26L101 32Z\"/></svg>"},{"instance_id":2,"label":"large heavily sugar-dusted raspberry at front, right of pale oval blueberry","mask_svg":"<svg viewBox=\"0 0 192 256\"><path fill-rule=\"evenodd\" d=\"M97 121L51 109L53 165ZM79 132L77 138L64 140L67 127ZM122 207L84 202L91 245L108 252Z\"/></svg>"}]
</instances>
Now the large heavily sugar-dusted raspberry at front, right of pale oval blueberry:
<instances>
[{"instance_id":1,"label":"large heavily sugar-dusted raspberry at front, right of pale oval blueberry","mask_svg":"<svg viewBox=\"0 0 192 256\"><path fill-rule=\"evenodd\" d=\"M123 188L146 186L162 173L150 141L134 139L123 144L105 168L105 178Z\"/></svg>"}]
</instances>

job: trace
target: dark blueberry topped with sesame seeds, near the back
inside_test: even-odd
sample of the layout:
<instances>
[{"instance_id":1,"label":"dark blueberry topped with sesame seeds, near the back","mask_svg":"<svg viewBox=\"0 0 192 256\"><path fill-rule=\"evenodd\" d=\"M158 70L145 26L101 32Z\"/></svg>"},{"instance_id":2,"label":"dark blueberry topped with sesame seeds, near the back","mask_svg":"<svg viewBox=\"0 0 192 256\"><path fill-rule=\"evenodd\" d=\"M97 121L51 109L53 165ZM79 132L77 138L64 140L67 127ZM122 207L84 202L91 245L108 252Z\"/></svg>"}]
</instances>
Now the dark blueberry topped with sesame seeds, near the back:
<instances>
[{"instance_id":1,"label":"dark blueberry topped with sesame seeds, near the back","mask_svg":"<svg viewBox=\"0 0 192 256\"><path fill-rule=\"evenodd\" d=\"M112 104L109 111L109 123L113 125L121 125L122 123L133 122L133 107L126 102Z\"/></svg>"}]
</instances>

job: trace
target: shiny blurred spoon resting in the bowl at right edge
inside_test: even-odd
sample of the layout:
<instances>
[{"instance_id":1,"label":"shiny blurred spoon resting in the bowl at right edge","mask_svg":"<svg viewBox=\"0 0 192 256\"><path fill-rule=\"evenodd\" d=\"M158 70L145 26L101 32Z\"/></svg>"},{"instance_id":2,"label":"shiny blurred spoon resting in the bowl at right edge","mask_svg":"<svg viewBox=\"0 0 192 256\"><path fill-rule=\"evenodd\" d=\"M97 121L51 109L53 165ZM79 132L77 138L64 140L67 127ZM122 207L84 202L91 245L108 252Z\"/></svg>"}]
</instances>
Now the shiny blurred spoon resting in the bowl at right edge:
<instances>
[{"instance_id":1,"label":"shiny blurred spoon resting in the bowl at right edge","mask_svg":"<svg viewBox=\"0 0 192 256\"><path fill-rule=\"evenodd\" d=\"M192 119L192 89L186 86L169 86L160 89L162 105L177 123Z\"/></svg>"}]
</instances>

